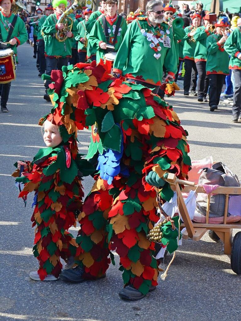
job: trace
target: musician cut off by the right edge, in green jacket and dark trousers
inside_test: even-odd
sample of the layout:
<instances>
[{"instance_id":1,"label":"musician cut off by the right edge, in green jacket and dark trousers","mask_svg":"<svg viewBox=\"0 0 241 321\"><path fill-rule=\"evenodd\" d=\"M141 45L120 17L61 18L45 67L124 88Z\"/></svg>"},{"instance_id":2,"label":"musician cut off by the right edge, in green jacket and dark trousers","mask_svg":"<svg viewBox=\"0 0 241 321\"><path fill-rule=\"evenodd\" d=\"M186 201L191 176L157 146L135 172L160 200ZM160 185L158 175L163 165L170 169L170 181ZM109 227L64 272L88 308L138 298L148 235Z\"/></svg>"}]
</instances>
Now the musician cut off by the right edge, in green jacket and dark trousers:
<instances>
[{"instance_id":1,"label":"musician cut off by the right edge, in green jacket and dark trousers","mask_svg":"<svg viewBox=\"0 0 241 321\"><path fill-rule=\"evenodd\" d=\"M237 123L241 112L241 18L237 20L237 28L227 38L224 49L230 55L229 69L232 69L235 79L232 121Z\"/></svg>"}]
</instances>

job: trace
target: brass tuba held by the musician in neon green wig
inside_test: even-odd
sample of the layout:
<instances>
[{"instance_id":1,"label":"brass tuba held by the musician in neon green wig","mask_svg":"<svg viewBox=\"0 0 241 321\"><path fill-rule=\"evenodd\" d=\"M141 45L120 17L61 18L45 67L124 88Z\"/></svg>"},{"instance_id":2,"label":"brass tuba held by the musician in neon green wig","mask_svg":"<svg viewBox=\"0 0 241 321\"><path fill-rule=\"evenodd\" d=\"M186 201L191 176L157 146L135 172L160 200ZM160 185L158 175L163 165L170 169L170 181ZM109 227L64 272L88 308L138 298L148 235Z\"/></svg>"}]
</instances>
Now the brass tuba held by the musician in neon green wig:
<instances>
[{"instance_id":1,"label":"brass tuba held by the musician in neon green wig","mask_svg":"<svg viewBox=\"0 0 241 321\"><path fill-rule=\"evenodd\" d=\"M82 7L81 7L80 3L77 0L75 0L74 3L67 10L65 10L65 12L63 12L61 14L61 16L59 17L56 24L62 23L64 25L63 30L58 30L55 33L55 38L59 42L65 41L67 39L66 32L72 30L74 22L73 22L73 19L71 17L69 17L69 15L70 15L70 13L72 13L73 11L75 11L77 9L82 9ZM70 25L68 25L69 21L70 21Z\"/></svg>"}]
</instances>

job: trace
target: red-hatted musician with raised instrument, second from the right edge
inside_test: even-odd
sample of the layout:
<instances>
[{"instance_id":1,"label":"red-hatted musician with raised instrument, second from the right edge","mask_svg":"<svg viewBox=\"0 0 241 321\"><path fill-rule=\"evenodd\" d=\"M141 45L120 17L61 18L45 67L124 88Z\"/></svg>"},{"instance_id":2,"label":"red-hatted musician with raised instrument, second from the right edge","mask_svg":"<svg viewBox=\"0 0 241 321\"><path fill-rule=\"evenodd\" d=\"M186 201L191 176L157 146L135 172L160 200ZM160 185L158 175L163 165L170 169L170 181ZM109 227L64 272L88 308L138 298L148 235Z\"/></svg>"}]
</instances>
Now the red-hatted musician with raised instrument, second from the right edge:
<instances>
[{"instance_id":1,"label":"red-hatted musician with raised instrument, second from the right edge","mask_svg":"<svg viewBox=\"0 0 241 321\"><path fill-rule=\"evenodd\" d=\"M226 75L229 74L229 57L223 46L226 41L225 30L229 25L220 19L215 23L216 34L207 38L207 64L206 73L209 77L209 107L210 111L218 109Z\"/></svg>"}]
</instances>

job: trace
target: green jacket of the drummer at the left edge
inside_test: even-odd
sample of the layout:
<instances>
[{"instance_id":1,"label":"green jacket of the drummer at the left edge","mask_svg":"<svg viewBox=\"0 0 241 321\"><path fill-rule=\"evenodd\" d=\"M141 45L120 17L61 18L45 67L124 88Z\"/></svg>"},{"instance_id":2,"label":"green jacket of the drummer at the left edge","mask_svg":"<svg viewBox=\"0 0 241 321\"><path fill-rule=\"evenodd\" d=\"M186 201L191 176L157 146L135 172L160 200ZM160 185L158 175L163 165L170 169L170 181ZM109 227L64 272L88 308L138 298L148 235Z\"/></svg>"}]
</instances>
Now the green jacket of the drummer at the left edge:
<instances>
[{"instance_id":1,"label":"green jacket of the drummer at the left edge","mask_svg":"<svg viewBox=\"0 0 241 321\"><path fill-rule=\"evenodd\" d=\"M0 28L1 28L1 35L2 35L0 41L6 42L8 37L8 31L10 29L9 25L13 22L14 16L15 15L11 13L10 16L5 17L4 14L0 12ZM28 39L28 34L25 28L25 24L20 17L17 17L10 40L13 38L17 40L17 43L16 45L10 46L9 48L14 51L14 54L16 55L16 60L17 60L17 46L22 45Z\"/></svg>"}]
</instances>

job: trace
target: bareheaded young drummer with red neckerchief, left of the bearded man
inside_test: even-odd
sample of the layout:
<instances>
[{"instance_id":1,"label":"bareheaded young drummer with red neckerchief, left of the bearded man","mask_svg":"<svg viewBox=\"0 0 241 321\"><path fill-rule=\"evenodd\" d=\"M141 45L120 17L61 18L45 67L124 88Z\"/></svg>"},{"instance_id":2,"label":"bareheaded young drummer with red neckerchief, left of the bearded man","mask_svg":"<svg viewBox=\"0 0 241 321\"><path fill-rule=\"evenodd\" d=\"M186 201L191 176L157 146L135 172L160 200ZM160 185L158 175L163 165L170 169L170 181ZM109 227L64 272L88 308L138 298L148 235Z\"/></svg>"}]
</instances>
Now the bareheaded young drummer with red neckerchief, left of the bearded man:
<instances>
[{"instance_id":1,"label":"bareheaded young drummer with red neckerchief, left of the bearded man","mask_svg":"<svg viewBox=\"0 0 241 321\"><path fill-rule=\"evenodd\" d=\"M118 1L106 1L106 15L100 16L89 34L90 45L97 50L96 61L99 62L108 51L117 52L127 29L126 21L117 12ZM112 45L113 49L107 46Z\"/></svg>"}]
</instances>

